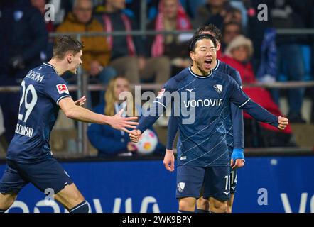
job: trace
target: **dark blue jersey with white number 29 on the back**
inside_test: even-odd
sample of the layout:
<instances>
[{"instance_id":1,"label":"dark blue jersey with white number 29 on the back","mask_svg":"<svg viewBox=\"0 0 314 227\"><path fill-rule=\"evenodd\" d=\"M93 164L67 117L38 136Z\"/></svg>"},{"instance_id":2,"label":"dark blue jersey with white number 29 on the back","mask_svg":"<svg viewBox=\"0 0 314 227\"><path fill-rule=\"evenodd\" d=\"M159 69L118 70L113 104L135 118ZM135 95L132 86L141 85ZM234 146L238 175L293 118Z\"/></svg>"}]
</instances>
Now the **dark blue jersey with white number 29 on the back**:
<instances>
[{"instance_id":1,"label":"dark blue jersey with white number 29 on the back","mask_svg":"<svg viewBox=\"0 0 314 227\"><path fill-rule=\"evenodd\" d=\"M58 103L70 97L67 83L47 63L30 70L21 82L16 131L6 158L33 162L51 155L49 139L58 116Z\"/></svg>"}]
</instances>

